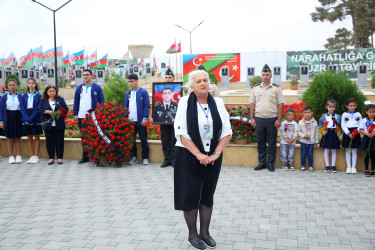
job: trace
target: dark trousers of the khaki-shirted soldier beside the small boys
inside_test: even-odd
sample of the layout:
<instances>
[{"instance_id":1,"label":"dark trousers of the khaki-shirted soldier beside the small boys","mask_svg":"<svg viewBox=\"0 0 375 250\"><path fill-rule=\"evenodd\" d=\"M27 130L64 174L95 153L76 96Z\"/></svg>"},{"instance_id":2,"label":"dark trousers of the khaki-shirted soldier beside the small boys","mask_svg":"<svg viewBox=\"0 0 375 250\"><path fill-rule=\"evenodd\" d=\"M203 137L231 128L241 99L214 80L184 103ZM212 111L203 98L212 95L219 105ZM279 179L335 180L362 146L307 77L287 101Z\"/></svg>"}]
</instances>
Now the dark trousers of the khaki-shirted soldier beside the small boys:
<instances>
[{"instance_id":1,"label":"dark trousers of the khaki-shirted soldier beside the small boys","mask_svg":"<svg viewBox=\"0 0 375 250\"><path fill-rule=\"evenodd\" d=\"M258 161L259 165L266 165L267 143L268 143L268 166L273 166L276 159L276 138L277 129L275 128L274 118L255 117L256 138L258 143Z\"/></svg>"}]
</instances>

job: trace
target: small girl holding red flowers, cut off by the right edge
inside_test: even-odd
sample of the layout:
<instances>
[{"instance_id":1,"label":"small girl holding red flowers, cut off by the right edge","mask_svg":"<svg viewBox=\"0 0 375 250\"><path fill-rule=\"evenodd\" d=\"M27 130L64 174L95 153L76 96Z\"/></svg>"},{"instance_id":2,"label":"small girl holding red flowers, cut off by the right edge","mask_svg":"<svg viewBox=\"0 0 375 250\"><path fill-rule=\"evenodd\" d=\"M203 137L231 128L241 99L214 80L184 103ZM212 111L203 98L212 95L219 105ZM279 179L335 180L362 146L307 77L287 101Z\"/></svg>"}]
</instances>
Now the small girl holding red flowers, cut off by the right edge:
<instances>
[{"instance_id":1,"label":"small girl holding red flowers, cut off by the right edge","mask_svg":"<svg viewBox=\"0 0 375 250\"><path fill-rule=\"evenodd\" d=\"M366 117L362 119L359 125L359 132L363 134L363 139L359 145L359 150L366 151L365 155L365 176L375 175L375 105L366 106ZM368 170L368 164L371 157L371 174Z\"/></svg>"}]
</instances>

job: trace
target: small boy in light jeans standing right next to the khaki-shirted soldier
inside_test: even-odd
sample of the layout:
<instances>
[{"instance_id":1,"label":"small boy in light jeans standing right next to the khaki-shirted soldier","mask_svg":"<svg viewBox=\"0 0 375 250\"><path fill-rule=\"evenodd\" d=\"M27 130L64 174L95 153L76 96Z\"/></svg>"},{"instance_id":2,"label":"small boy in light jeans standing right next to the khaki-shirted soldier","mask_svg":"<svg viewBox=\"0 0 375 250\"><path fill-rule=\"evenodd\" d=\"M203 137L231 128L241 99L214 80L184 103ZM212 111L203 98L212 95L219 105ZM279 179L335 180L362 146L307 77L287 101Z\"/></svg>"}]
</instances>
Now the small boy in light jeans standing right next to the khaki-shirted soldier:
<instances>
[{"instance_id":1,"label":"small boy in light jeans standing right next to the khaki-shirted soldier","mask_svg":"<svg viewBox=\"0 0 375 250\"><path fill-rule=\"evenodd\" d=\"M280 159L283 170L294 171L294 149L297 139L297 123L293 121L294 109L288 108L285 111L286 120L280 126ZM289 163L289 168L288 168Z\"/></svg>"}]
</instances>

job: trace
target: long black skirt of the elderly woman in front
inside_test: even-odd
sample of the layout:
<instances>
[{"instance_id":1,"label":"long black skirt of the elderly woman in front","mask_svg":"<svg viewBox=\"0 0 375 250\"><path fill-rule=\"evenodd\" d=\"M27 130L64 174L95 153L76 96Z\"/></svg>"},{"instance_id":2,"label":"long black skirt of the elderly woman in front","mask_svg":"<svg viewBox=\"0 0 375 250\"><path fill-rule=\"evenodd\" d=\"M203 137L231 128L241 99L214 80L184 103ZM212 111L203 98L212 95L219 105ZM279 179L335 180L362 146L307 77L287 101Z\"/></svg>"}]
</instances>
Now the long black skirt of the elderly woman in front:
<instances>
[{"instance_id":1,"label":"long black skirt of the elderly woman in front","mask_svg":"<svg viewBox=\"0 0 375 250\"><path fill-rule=\"evenodd\" d=\"M191 211L200 204L212 207L219 179L222 156L215 166L201 165L186 148L175 147L174 154L174 206L176 210ZM192 167L196 165L199 169ZM213 169L216 168L216 169Z\"/></svg>"}]
</instances>

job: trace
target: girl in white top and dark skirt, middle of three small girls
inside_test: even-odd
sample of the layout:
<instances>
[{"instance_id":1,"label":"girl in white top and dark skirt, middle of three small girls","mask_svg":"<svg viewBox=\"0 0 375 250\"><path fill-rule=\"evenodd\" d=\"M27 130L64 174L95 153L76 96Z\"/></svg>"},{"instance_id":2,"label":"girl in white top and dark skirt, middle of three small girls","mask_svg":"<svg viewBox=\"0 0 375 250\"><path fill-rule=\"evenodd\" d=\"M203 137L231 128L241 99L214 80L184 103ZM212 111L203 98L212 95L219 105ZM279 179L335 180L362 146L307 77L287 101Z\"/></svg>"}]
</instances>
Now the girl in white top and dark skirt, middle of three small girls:
<instances>
[{"instance_id":1,"label":"girl in white top and dark skirt, middle of three small girls","mask_svg":"<svg viewBox=\"0 0 375 250\"><path fill-rule=\"evenodd\" d=\"M354 98L350 98L346 102L346 109L348 110L342 114L341 128L344 132L342 137L342 147L346 148L346 173L357 173L357 150L361 142L361 135L358 133L359 124L362 120L362 115L356 111L358 106Z\"/></svg>"}]
</instances>

